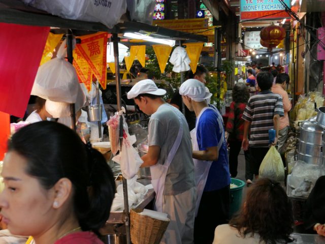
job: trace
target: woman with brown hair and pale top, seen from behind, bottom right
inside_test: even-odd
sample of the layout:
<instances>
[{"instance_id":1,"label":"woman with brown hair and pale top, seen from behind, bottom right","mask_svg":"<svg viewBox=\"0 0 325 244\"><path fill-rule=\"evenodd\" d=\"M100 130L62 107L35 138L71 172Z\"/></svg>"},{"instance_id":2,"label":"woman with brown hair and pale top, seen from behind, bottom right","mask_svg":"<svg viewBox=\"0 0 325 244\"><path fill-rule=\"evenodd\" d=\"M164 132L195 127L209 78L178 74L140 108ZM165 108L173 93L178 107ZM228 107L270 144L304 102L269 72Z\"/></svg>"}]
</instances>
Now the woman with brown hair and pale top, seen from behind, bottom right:
<instances>
[{"instance_id":1,"label":"woman with brown hair and pale top, seen from behind, bottom right","mask_svg":"<svg viewBox=\"0 0 325 244\"><path fill-rule=\"evenodd\" d=\"M248 189L239 214L215 229L213 244L289 243L293 212L277 181L261 178Z\"/></svg>"}]
</instances>

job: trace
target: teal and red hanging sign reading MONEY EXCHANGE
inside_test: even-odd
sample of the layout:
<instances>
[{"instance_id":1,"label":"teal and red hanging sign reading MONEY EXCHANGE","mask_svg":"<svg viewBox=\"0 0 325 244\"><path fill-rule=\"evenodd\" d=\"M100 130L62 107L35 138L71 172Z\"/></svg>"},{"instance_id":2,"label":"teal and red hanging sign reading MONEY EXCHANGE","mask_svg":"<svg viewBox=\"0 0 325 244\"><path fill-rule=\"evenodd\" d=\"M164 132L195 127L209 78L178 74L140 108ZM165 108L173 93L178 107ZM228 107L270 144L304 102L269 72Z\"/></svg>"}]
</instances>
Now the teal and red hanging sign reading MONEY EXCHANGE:
<instances>
[{"instance_id":1,"label":"teal and red hanging sign reading MONEY EXCHANGE","mask_svg":"<svg viewBox=\"0 0 325 244\"><path fill-rule=\"evenodd\" d=\"M290 8L290 0L283 0ZM240 0L240 19L281 19L289 17L280 0Z\"/></svg>"}]
</instances>

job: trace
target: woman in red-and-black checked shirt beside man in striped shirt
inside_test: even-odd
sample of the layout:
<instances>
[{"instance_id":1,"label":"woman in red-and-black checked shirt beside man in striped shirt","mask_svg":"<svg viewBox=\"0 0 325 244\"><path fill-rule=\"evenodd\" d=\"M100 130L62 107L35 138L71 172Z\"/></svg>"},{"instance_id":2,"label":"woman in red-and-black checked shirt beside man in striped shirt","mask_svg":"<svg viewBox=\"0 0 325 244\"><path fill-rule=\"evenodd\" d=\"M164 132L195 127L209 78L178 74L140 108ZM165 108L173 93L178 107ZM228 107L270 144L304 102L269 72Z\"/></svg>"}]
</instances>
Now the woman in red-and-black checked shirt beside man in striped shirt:
<instances>
[{"instance_id":1,"label":"woman in red-and-black checked shirt beside man in striped shirt","mask_svg":"<svg viewBox=\"0 0 325 244\"><path fill-rule=\"evenodd\" d=\"M244 134L244 120L242 119L247 101L249 99L249 90L244 83L237 83L233 88L233 102L230 105L229 116L226 124L228 133L229 169L232 177L237 176L238 155L242 146ZM245 153L245 178L248 184L251 184L253 174L249 170L249 155Z\"/></svg>"}]
</instances>

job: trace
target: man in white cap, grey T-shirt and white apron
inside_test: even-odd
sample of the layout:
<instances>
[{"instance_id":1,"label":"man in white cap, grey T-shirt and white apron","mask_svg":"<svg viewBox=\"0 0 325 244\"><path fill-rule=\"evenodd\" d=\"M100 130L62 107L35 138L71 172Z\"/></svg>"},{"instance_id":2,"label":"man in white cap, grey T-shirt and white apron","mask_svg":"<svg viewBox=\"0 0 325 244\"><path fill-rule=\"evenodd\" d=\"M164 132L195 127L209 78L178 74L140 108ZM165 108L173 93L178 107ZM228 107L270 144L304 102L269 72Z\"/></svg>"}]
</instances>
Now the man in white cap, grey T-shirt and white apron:
<instances>
[{"instance_id":1,"label":"man in white cap, grey T-shirt and white apron","mask_svg":"<svg viewBox=\"0 0 325 244\"><path fill-rule=\"evenodd\" d=\"M135 84L127 98L133 98L145 114L151 115L149 149L141 167L150 167L155 210L166 212L171 220L161 243L193 243L197 192L191 139L185 117L165 103L165 94L166 90L146 79Z\"/></svg>"}]
</instances>

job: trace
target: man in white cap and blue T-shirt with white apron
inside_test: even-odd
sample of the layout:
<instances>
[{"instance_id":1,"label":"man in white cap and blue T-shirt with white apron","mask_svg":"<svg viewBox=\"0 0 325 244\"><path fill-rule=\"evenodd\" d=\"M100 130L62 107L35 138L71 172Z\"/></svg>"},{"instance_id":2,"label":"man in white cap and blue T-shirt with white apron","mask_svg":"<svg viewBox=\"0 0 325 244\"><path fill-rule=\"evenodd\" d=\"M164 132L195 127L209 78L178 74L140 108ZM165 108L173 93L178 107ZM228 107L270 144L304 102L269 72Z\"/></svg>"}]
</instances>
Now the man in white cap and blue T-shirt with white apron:
<instances>
[{"instance_id":1,"label":"man in white cap and blue T-shirt with white apron","mask_svg":"<svg viewBox=\"0 0 325 244\"><path fill-rule=\"evenodd\" d=\"M228 222L230 205L230 173L222 116L207 103L212 94L199 80L186 80L179 93L186 107L197 116L196 128L191 131L198 193L194 242L212 243L215 228Z\"/></svg>"}]
</instances>

